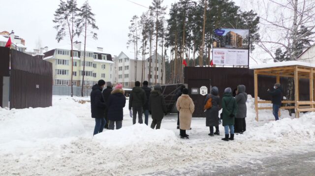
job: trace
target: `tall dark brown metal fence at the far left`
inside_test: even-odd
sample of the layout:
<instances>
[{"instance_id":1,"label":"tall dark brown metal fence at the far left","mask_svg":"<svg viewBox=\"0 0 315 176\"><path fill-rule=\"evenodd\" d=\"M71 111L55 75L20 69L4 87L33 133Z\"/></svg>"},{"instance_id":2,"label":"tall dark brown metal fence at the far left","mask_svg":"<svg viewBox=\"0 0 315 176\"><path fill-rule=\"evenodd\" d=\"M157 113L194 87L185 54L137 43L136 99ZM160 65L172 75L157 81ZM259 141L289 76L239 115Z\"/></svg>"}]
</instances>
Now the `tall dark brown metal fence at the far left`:
<instances>
[{"instance_id":1,"label":"tall dark brown metal fence at the far left","mask_svg":"<svg viewBox=\"0 0 315 176\"><path fill-rule=\"evenodd\" d=\"M52 106L52 63L42 60L42 56L32 57L0 47L1 58L3 53L7 56L10 52L10 109ZM1 59L0 65L2 67Z\"/></svg>"}]
</instances>

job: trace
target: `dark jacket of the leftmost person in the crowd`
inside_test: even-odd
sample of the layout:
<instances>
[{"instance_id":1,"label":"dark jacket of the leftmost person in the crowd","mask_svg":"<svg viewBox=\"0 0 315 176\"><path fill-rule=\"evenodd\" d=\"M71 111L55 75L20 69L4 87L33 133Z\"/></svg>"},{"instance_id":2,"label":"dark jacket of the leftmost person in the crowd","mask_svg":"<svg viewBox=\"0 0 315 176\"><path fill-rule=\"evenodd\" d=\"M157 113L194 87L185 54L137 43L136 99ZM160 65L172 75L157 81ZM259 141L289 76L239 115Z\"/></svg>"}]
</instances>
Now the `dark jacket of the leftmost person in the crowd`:
<instances>
[{"instance_id":1,"label":"dark jacket of the leftmost person in the crowd","mask_svg":"<svg viewBox=\"0 0 315 176\"><path fill-rule=\"evenodd\" d=\"M91 91L91 114L92 118L104 118L106 104L102 96L102 88L97 84L92 87Z\"/></svg>"}]
</instances>

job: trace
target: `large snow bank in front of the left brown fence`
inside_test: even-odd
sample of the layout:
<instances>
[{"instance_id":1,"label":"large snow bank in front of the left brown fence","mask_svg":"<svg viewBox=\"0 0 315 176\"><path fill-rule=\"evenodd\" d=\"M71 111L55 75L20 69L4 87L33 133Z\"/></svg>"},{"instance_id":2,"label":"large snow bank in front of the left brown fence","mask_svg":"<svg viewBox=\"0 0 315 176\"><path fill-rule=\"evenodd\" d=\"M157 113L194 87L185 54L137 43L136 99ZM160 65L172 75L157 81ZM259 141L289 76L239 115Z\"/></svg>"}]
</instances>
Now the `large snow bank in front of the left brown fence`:
<instances>
[{"instance_id":1,"label":"large snow bank in front of the left brown fence","mask_svg":"<svg viewBox=\"0 0 315 176\"><path fill-rule=\"evenodd\" d=\"M0 143L66 138L85 132L81 121L58 107L0 109Z\"/></svg>"}]
</instances>

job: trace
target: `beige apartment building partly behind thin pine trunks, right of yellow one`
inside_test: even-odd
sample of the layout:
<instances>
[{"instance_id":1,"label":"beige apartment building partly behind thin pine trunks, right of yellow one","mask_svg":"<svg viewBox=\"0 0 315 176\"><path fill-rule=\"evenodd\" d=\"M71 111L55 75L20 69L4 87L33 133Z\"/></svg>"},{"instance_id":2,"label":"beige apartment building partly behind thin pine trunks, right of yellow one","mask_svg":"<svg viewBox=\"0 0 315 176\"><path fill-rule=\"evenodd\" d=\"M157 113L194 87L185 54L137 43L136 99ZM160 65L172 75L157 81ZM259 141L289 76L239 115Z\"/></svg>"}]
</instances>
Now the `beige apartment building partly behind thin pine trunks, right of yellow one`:
<instances>
[{"instance_id":1,"label":"beige apartment building partly behind thin pine trunks, right of yellow one","mask_svg":"<svg viewBox=\"0 0 315 176\"><path fill-rule=\"evenodd\" d=\"M151 64L151 74L149 74L149 58L145 59L143 62L142 56L139 56L137 61L135 59L131 59L128 57L126 53L121 52L117 57L113 59L114 66L112 70L112 83L118 84L121 83L124 88L132 88L134 87L134 82L136 81L148 81L150 85L155 85L155 78L157 78L157 84L161 83L161 68L162 68L162 57L158 54L158 63L157 63L157 75L155 72L156 68L156 55L152 56L152 64ZM143 65L144 63L144 65ZM137 67L137 69L135 68ZM142 73L142 66L144 66L144 71ZM137 71L136 71L137 70ZM142 78L144 75L144 79ZM163 82L165 82L165 70L163 75ZM149 79L150 78L150 79Z\"/></svg>"}]
</instances>

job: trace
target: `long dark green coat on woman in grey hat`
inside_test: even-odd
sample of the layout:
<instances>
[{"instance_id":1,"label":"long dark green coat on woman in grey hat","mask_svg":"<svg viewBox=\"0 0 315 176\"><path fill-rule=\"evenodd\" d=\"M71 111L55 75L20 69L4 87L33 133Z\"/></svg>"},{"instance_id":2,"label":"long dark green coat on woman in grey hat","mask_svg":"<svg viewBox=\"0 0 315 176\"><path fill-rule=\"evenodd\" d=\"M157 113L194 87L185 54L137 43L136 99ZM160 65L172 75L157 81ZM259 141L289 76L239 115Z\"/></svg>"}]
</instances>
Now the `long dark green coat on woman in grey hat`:
<instances>
[{"instance_id":1,"label":"long dark green coat on woman in grey hat","mask_svg":"<svg viewBox=\"0 0 315 176\"><path fill-rule=\"evenodd\" d=\"M234 125L237 113L237 104L231 93L224 93L222 98L222 125ZM233 114L234 117L230 117Z\"/></svg>"}]
</instances>

